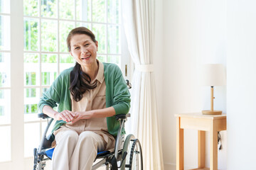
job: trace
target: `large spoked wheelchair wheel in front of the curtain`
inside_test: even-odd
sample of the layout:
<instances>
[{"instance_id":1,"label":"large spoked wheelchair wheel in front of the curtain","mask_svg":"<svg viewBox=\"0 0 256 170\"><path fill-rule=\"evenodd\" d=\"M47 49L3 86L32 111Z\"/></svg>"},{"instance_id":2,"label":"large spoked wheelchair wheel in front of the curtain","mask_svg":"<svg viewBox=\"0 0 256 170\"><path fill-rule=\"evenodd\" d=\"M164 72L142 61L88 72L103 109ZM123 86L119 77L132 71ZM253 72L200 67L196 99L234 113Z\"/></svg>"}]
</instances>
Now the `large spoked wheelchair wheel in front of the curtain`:
<instances>
[{"instance_id":1,"label":"large spoked wheelchair wheel in front of the curtain","mask_svg":"<svg viewBox=\"0 0 256 170\"><path fill-rule=\"evenodd\" d=\"M127 156L124 160L124 163L121 166L122 170L142 170L143 161L142 161L142 147L139 143L139 140L135 139L134 135L128 135L124 142L124 148L122 154L127 152Z\"/></svg>"}]
</instances>

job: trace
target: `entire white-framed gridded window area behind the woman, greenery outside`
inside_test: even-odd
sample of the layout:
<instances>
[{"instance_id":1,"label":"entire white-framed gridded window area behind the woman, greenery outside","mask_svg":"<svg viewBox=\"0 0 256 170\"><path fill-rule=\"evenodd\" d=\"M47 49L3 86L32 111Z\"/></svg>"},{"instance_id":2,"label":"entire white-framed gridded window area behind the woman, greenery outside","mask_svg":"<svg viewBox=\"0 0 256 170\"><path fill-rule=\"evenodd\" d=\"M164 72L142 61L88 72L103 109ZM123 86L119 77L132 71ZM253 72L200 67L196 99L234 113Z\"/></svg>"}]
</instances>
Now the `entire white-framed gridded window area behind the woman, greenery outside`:
<instances>
[{"instance_id":1,"label":"entire white-framed gridded window area behind the woman, greenery outside","mask_svg":"<svg viewBox=\"0 0 256 170\"><path fill-rule=\"evenodd\" d=\"M17 38L11 22L21 28ZM46 120L37 118L37 103L58 74L73 67L65 39L78 26L95 33L98 60L124 71L129 55L124 55L121 0L0 0L0 135L5 136L0 149L6 153L0 155L0 169L10 164L31 168L33 148L46 127ZM16 50L14 42L22 49ZM11 142L17 139L20 144ZM16 153L16 148L23 151ZM22 157L29 161L22 163Z\"/></svg>"}]
</instances>

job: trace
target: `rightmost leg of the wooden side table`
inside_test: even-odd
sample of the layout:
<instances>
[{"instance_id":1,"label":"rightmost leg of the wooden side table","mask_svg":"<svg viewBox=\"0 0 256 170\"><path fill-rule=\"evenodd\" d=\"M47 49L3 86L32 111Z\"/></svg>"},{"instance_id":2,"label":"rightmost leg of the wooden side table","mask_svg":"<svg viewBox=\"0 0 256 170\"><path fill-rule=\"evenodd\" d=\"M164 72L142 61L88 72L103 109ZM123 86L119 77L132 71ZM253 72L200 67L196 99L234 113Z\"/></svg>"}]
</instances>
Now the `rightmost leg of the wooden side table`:
<instances>
[{"instance_id":1,"label":"rightmost leg of the wooden side table","mask_svg":"<svg viewBox=\"0 0 256 170\"><path fill-rule=\"evenodd\" d=\"M210 128L210 170L218 170L218 131L213 121Z\"/></svg>"}]
</instances>

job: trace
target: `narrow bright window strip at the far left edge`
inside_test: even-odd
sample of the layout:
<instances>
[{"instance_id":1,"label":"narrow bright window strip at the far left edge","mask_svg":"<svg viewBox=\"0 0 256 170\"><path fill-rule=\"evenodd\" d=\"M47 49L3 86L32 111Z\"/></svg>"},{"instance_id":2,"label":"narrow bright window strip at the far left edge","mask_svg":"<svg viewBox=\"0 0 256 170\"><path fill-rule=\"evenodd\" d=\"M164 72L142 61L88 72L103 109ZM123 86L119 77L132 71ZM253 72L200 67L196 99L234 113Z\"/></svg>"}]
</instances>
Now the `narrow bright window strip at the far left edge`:
<instances>
[{"instance_id":1,"label":"narrow bright window strip at the far left edge","mask_svg":"<svg viewBox=\"0 0 256 170\"><path fill-rule=\"evenodd\" d=\"M11 160L10 2L0 1L0 162Z\"/></svg>"}]
</instances>

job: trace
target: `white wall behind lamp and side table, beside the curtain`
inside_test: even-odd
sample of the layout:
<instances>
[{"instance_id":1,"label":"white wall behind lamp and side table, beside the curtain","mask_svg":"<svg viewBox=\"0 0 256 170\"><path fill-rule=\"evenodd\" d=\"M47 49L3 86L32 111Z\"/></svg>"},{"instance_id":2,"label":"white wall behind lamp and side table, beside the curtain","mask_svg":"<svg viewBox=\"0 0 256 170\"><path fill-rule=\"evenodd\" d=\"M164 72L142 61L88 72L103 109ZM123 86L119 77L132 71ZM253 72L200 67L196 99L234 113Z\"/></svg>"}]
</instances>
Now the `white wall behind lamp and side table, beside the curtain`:
<instances>
[{"instance_id":1,"label":"white wall behind lamp and side table, beside the curtain","mask_svg":"<svg viewBox=\"0 0 256 170\"><path fill-rule=\"evenodd\" d=\"M199 83L201 65L226 63L226 1L163 0L163 79L161 130L165 169L176 167L177 113L210 108L210 87ZM159 67L160 69L160 67ZM225 86L215 88L215 109L226 113ZM226 132L218 169L226 169ZM208 137L208 135L207 135ZM197 132L184 131L185 169L197 167ZM208 140L206 140L208 142ZM206 155L209 145L206 145ZM209 157L206 164L209 166Z\"/></svg>"}]
</instances>

